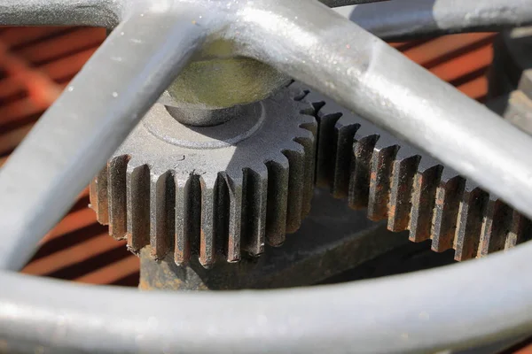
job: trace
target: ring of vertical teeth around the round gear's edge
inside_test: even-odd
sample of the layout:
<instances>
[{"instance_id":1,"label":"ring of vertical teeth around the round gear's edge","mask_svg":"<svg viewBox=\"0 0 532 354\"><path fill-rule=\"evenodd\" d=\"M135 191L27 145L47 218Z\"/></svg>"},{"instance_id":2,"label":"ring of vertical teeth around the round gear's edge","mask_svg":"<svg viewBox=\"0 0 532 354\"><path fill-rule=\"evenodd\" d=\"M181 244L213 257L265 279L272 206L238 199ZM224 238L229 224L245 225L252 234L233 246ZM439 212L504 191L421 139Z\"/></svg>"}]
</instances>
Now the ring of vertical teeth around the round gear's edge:
<instances>
[{"instance_id":1,"label":"ring of vertical teeth around the round gear's edge","mask_svg":"<svg viewBox=\"0 0 532 354\"><path fill-rule=\"evenodd\" d=\"M312 106L300 102L306 93L289 92L290 98L284 90L273 99L291 100L301 115L297 134L270 158L249 158L239 171L184 172L121 148L90 183L98 221L114 238L127 239L133 253L150 245L153 258L161 259L173 251L177 265L192 256L205 267L222 258L238 262L242 253L262 254L265 242L281 245L310 209L317 133Z\"/></svg>"}]
</instances>

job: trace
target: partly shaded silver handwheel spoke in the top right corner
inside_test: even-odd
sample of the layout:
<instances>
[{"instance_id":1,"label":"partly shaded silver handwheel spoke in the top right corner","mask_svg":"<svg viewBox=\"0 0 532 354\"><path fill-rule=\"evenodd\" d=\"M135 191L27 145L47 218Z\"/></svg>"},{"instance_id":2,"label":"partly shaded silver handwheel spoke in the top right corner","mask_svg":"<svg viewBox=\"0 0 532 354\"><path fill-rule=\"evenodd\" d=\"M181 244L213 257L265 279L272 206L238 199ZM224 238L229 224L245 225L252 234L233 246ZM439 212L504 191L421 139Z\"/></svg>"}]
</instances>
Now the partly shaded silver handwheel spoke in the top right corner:
<instances>
[{"instance_id":1,"label":"partly shaded silver handwheel spoke in the top right corner","mask_svg":"<svg viewBox=\"0 0 532 354\"><path fill-rule=\"evenodd\" d=\"M532 23L531 0L393 0L341 11L373 35L401 41Z\"/></svg>"}]
</instances>

